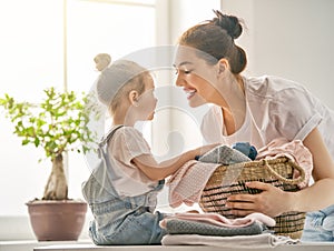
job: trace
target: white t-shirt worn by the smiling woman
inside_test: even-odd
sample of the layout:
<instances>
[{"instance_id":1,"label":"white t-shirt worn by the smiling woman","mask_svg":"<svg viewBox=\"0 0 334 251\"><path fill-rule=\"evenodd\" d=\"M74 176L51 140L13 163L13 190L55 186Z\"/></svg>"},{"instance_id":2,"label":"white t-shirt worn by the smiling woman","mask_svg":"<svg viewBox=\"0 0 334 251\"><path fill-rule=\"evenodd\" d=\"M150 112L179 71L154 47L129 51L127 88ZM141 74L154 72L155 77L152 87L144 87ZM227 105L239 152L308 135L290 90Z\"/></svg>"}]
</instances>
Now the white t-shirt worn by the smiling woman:
<instances>
[{"instance_id":1,"label":"white t-shirt worn by the smiling woman","mask_svg":"<svg viewBox=\"0 0 334 251\"><path fill-rule=\"evenodd\" d=\"M334 157L334 111L324 106L302 84L272 76L244 78L246 116L244 124L224 135L223 111L213 106L202 121L207 143L249 142L256 148L273 139L304 140L318 128Z\"/></svg>"}]
</instances>

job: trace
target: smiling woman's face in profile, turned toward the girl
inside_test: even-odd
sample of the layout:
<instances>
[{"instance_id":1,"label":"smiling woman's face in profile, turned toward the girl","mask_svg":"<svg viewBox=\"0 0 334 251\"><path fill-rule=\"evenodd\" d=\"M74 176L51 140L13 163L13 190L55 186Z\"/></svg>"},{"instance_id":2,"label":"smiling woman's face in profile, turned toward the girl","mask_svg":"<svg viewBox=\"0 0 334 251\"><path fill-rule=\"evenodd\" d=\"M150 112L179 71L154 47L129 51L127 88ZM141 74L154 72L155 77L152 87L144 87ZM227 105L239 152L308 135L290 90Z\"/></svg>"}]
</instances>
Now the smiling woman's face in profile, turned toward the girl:
<instances>
[{"instance_id":1,"label":"smiling woman's face in profile, turned toward the girl","mask_svg":"<svg viewBox=\"0 0 334 251\"><path fill-rule=\"evenodd\" d=\"M174 67L177 74L176 86L183 87L190 107L213 102L217 94L215 66L198 58L195 49L178 47Z\"/></svg>"}]
</instances>

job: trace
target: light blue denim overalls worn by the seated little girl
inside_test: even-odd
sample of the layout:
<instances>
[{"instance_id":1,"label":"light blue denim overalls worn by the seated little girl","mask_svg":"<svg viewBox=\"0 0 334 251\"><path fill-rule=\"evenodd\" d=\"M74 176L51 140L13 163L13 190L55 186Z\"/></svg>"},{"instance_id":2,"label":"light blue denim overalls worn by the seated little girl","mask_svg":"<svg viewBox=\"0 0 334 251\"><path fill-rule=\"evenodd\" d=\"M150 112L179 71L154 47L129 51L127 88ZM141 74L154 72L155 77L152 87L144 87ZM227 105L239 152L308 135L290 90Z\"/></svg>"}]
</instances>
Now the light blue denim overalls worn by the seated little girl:
<instances>
[{"instance_id":1,"label":"light blue denim overalls worn by the seated little girl","mask_svg":"<svg viewBox=\"0 0 334 251\"><path fill-rule=\"evenodd\" d=\"M89 235L96 244L160 244L166 231L159 227L165 214L154 212L157 192L164 180L149 192L136 197L120 198L112 185L107 142L114 129L99 144L101 162L89 179L82 183L82 194L94 214Z\"/></svg>"}]
</instances>

